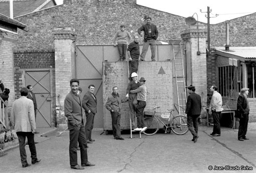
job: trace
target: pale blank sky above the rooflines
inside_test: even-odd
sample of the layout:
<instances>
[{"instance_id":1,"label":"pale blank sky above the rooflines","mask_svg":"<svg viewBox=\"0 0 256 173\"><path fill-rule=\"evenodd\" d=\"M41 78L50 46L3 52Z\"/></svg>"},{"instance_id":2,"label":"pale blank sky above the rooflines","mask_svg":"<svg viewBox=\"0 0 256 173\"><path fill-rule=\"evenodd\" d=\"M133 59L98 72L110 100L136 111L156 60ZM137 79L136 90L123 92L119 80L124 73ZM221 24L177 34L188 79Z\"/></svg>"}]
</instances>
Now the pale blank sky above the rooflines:
<instances>
[{"instance_id":1,"label":"pale blank sky above the rooflines","mask_svg":"<svg viewBox=\"0 0 256 173\"><path fill-rule=\"evenodd\" d=\"M256 12L255 0L137 0L137 4L182 17L189 17L196 13L198 21L204 23L207 23L205 17L207 13L204 12L207 12L207 6L209 6L212 10L210 24L221 23ZM196 14L193 17L197 20ZM218 14L217 17L216 14Z\"/></svg>"}]
</instances>

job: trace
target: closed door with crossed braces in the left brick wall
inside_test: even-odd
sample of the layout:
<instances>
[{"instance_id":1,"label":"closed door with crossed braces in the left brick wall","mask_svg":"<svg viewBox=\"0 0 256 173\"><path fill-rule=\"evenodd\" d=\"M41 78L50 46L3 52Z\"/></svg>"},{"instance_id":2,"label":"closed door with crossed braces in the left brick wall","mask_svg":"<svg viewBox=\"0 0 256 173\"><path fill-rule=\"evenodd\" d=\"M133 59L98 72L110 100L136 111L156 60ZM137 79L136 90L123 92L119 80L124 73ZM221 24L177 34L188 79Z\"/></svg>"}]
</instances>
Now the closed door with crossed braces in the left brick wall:
<instances>
[{"instance_id":1,"label":"closed door with crossed braces in the left brick wall","mask_svg":"<svg viewBox=\"0 0 256 173\"><path fill-rule=\"evenodd\" d=\"M51 127L50 70L26 70L25 86L31 85L35 94L36 127Z\"/></svg>"}]
</instances>

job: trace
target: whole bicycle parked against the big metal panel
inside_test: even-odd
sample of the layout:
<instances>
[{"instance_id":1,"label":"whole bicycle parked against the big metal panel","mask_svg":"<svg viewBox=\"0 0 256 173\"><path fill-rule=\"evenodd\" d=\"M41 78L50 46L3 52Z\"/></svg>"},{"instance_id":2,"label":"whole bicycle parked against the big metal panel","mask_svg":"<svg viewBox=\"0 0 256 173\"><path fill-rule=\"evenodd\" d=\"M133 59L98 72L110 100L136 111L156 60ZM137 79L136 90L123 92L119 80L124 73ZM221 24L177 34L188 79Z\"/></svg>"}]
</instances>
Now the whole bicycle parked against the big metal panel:
<instances>
[{"instance_id":1,"label":"whole bicycle parked against the big metal panel","mask_svg":"<svg viewBox=\"0 0 256 173\"><path fill-rule=\"evenodd\" d=\"M185 115L177 115L174 116L172 110L168 110L169 112L161 112L160 114L169 114L168 123L165 124L159 117L156 115L158 112L156 112L156 109L160 107L154 107L154 113L153 112L144 112L144 122L145 126L147 126L147 130L145 130L143 133L145 135L155 135L159 130L159 120L163 124L163 129L165 130L164 133L175 133L176 135L184 135L189 131L188 124L187 124L187 116ZM172 118L171 118L172 117ZM171 130L170 130L171 129Z\"/></svg>"}]
</instances>

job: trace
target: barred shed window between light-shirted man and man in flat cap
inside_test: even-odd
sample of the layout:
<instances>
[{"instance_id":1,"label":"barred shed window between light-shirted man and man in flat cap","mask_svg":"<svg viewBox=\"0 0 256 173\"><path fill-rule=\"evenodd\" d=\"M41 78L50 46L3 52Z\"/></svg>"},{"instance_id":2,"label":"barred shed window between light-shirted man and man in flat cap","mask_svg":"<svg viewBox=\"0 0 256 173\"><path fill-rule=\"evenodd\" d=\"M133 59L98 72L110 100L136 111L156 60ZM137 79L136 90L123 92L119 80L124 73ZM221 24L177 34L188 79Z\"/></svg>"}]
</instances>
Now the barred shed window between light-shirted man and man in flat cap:
<instances>
[{"instance_id":1,"label":"barred shed window between light-shirted man and man in flat cap","mask_svg":"<svg viewBox=\"0 0 256 173\"><path fill-rule=\"evenodd\" d=\"M238 73L237 73L238 72ZM240 74L237 75L237 74ZM240 68L235 66L218 67L219 92L224 97L238 97L240 90ZM239 83L238 83L239 82Z\"/></svg>"}]
</instances>

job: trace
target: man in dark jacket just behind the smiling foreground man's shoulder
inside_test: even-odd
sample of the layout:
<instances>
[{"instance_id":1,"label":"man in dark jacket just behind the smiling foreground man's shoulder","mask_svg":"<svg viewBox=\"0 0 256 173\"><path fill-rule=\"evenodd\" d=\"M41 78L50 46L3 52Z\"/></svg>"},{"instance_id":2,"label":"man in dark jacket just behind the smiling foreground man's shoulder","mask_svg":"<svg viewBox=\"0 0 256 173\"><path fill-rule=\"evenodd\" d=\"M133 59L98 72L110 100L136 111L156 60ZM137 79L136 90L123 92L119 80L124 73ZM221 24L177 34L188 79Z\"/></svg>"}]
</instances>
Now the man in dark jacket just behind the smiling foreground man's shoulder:
<instances>
[{"instance_id":1,"label":"man in dark jacket just behind the smiling foreground man's shoulder","mask_svg":"<svg viewBox=\"0 0 256 173\"><path fill-rule=\"evenodd\" d=\"M97 113L97 99L94 95L95 86L89 85L87 93L83 97L83 108L86 114L85 133L87 143L93 143L95 140L92 139L92 130L94 128L94 116Z\"/></svg>"}]
</instances>

